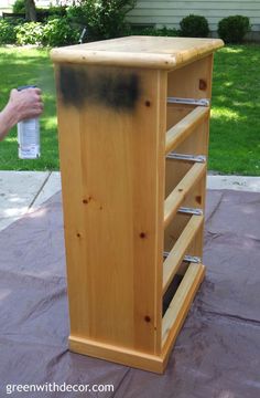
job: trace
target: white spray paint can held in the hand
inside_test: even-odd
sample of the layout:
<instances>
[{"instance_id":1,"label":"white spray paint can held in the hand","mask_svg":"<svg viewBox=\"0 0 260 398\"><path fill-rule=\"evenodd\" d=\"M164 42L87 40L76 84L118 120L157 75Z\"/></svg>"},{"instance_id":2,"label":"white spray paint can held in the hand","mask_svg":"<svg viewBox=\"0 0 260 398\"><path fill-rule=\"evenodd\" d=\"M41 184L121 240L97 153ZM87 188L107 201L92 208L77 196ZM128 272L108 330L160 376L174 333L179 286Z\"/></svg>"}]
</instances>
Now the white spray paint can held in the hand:
<instances>
[{"instance_id":1,"label":"white spray paint can held in the hand","mask_svg":"<svg viewBox=\"0 0 260 398\"><path fill-rule=\"evenodd\" d=\"M18 91L35 88L34 85L18 87ZM39 117L18 123L18 154L20 159L37 159L40 153Z\"/></svg>"}]
</instances>

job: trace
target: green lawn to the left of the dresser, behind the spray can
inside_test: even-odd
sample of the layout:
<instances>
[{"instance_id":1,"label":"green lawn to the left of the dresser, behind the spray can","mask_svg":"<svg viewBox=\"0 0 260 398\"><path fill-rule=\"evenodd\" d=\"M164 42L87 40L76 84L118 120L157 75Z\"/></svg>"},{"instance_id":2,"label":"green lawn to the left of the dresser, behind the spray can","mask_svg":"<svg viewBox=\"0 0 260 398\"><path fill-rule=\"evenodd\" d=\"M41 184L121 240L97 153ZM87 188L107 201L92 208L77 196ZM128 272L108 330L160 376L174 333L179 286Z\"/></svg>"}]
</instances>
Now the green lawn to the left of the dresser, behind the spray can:
<instances>
[{"instance_id":1,"label":"green lawn to the left of the dresser, behind the spray can","mask_svg":"<svg viewBox=\"0 0 260 398\"><path fill-rule=\"evenodd\" d=\"M0 109L9 92L21 85L36 84L43 92L44 113L41 116L41 158L18 158L17 127L0 143L1 170L57 170L57 122L54 73L47 50L0 48Z\"/></svg>"}]
</instances>

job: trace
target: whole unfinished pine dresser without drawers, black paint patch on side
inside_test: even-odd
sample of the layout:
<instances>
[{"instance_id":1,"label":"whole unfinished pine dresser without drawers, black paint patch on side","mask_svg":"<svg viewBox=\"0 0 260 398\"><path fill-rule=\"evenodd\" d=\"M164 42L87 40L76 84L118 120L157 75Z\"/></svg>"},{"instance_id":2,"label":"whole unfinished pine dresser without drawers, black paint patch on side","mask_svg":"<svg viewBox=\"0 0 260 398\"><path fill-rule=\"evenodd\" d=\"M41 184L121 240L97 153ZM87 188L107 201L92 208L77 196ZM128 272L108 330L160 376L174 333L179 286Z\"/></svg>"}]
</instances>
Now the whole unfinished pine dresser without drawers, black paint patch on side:
<instances>
[{"instance_id":1,"label":"whole unfinished pine dresser without drawers, black paint patch on side","mask_svg":"<svg viewBox=\"0 0 260 398\"><path fill-rule=\"evenodd\" d=\"M73 352L166 366L205 273L213 53L221 46L129 36L52 51Z\"/></svg>"}]
</instances>

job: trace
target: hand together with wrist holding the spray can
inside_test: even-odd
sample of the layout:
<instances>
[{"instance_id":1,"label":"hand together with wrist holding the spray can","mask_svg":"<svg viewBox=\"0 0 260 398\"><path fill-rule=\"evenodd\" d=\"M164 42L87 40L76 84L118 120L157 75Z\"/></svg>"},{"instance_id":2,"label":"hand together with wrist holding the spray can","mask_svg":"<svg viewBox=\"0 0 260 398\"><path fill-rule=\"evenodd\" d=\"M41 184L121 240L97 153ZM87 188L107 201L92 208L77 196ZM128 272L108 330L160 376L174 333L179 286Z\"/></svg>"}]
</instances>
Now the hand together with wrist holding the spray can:
<instances>
[{"instance_id":1,"label":"hand together with wrist holding the spray can","mask_svg":"<svg viewBox=\"0 0 260 398\"><path fill-rule=\"evenodd\" d=\"M0 140L18 122L37 117L42 112L40 88L12 90L7 106L0 112Z\"/></svg>"}]
</instances>

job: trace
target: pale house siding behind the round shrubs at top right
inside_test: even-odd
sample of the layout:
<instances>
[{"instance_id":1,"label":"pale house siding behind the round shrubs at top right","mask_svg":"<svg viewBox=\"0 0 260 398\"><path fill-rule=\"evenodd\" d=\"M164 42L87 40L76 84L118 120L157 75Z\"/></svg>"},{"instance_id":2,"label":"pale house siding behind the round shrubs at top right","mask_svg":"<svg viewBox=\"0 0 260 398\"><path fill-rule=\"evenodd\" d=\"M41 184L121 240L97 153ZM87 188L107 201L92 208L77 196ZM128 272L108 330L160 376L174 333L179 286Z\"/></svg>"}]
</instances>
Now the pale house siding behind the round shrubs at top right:
<instances>
[{"instance_id":1,"label":"pale house siding behind the round shrubs at top right","mask_svg":"<svg viewBox=\"0 0 260 398\"><path fill-rule=\"evenodd\" d=\"M138 0L128 19L133 23L154 23L158 27L180 28L180 21L188 14L207 18L212 31L217 30L220 19L242 14L250 18L254 31L260 31L260 0L237 1L156 1Z\"/></svg>"}]
</instances>

